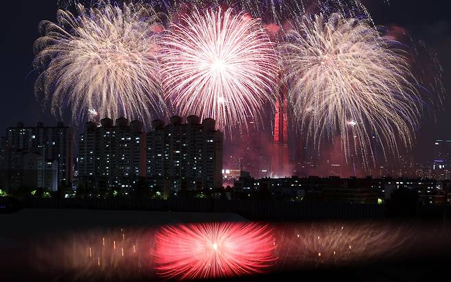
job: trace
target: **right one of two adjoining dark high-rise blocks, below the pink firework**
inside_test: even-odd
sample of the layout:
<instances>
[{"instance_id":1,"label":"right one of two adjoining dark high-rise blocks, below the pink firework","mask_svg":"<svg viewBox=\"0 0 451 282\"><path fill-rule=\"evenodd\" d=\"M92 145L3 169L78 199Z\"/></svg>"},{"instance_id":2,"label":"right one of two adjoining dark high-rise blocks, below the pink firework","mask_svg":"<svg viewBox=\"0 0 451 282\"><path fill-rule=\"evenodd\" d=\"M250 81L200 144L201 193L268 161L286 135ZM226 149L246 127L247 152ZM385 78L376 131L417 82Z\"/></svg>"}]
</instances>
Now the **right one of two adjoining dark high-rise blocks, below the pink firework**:
<instances>
[{"instance_id":1,"label":"right one of two adjoining dark high-rise blocks, below the pink firework","mask_svg":"<svg viewBox=\"0 0 451 282\"><path fill-rule=\"evenodd\" d=\"M160 187L178 190L221 188L223 135L215 120L173 116L164 126L152 122L147 133L147 177Z\"/></svg>"}]
</instances>

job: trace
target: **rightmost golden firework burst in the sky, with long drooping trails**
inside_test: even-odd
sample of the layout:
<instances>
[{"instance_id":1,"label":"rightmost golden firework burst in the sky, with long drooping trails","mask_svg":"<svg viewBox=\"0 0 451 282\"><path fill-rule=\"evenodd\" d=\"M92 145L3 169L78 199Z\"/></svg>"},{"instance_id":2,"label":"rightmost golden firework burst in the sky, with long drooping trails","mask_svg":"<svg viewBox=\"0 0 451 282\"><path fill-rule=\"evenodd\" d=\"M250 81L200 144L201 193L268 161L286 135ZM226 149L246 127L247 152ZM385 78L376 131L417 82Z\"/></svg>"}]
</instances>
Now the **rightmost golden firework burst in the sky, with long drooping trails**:
<instances>
[{"instance_id":1,"label":"rightmost golden firework burst in the sky, with long drooping trails","mask_svg":"<svg viewBox=\"0 0 451 282\"><path fill-rule=\"evenodd\" d=\"M365 20L303 16L280 45L282 65L290 85L289 100L302 130L320 145L341 137L350 148L374 155L411 147L421 103L409 56L397 42L380 36Z\"/></svg>"}]
</instances>

